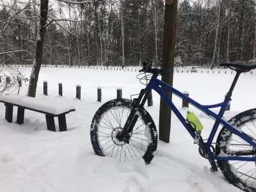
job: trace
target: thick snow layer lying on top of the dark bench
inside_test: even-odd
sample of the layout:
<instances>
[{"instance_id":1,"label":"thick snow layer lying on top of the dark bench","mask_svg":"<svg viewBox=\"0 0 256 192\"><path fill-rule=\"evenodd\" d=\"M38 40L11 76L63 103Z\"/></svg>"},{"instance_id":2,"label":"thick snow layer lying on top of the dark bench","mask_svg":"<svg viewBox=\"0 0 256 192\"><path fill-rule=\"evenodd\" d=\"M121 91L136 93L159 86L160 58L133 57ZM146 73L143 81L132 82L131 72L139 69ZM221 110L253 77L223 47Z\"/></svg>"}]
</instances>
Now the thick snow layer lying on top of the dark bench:
<instances>
[{"instance_id":1,"label":"thick snow layer lying on top of the dark bench","mask_svg":"<svg viewBox=\"0 0 256 192\"><path fill-rule=\"evenodd\" d=\"M1 95L0 100L31 109L36 109L38 111L44 111L53 115L60 115L61 113L66 113L72 109L75 109L72 104L68 104L67 102L37 99L24 95Z\"/></svg>"}]
</instances>

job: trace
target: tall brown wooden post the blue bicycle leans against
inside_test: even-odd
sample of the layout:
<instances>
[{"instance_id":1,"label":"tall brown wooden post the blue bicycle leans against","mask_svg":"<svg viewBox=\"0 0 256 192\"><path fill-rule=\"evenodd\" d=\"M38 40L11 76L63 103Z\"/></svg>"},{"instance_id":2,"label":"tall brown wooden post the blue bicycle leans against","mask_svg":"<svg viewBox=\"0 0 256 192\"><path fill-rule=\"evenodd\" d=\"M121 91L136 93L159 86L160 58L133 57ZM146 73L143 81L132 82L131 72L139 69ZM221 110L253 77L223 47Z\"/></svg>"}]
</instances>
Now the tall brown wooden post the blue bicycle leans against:
<instances>
[{"instance_id":1,"label":"tall brown wooden post the blue bicycle leans against","mask_svg":"<svg viewBox=\"0 0 256 192\"><path fill-rule=\"evenodd\" d=\"M177 17L177 0L165 0L164 9L164 38L163 38L163 68L170 68L171 72L162 76L162 81L170 86L173 85L173 68L175 58L175 35L176 35L176 17ZM172 100L172 93L166 92ZM170 142L171 131L171 109L160 100L159 111L159 140Z\"/></svg>"}]
</instances>

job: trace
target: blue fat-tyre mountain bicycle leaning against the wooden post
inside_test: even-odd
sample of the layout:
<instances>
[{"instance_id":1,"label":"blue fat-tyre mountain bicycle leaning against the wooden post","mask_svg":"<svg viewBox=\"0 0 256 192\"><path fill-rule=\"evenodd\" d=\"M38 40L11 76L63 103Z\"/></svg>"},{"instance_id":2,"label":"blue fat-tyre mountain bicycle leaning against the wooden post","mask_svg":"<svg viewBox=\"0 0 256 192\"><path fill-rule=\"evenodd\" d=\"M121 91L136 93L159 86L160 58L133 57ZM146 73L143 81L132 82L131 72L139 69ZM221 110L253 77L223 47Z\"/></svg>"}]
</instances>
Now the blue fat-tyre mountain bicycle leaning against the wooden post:
<instances>
[{"instance_id":1,"label":"blue fat-tyre mountain bicycle leaning against the wooden post","mask_svg":"<svg viewBox=\"0 0 256 192\"><path fill-rule=\"evenodd\" d=\"M250 136L253 134L256 137L252 131L252 128L256 128L256 123L253 122L256 119L256 109L239 113L228 122L223 118L240 74L255 69L256 65L221 63L220 66L236 71L230 90L223 102L202 105L157 79L157 76L163 76L170 70L151 68L144 62L140 72L143 72L145 76L140 78L140 81L144 79L148 80L148 83L146 88L141 90L138 98L109 100L95 113L90 129L95 154L115 157L120 161L138 159L140 156L143 157L146 164L152 161L157 148L157 129L152 117L143 106L151 90L155 90L192 136L194 143L199 147L200 155L209 160L211 171L217 172L220 168L230 184L243 191L256 191L256 140ZM148 78L147 73L152 77ZM202 129L196 129L196 124L189 122L188 118L184 118L164 91L186 100L215 120L207 142L201 136ZM212 108L220 108L219 113L212 112L210 110ZM216 143L212 143L219 125L223 127L218 134Z\"/></svg>"}]
</instances>

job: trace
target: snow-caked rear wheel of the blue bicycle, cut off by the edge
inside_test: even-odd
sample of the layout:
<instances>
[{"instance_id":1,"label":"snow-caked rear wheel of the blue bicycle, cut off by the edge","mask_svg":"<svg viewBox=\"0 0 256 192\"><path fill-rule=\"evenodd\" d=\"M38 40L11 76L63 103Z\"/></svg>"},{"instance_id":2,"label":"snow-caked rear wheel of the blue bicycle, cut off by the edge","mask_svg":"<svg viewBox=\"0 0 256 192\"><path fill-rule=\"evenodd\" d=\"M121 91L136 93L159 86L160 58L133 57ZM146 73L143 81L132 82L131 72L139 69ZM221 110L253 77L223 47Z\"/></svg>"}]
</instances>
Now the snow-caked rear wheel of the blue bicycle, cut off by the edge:
<instances>
[{"instance_id":1,"label":"snow-caked rear wheel of the blue bicycle, cut off by the edge","mask_svg":"<svg viewBox=\"0 0 256 192\"><path fill-rule=\"evenodd\" d=\"M256 109L239 113L228 121L239 130L256 139ZM236 134L223 127L216 142L217 156L238 154L255 157L255 148ZM252 154L254 153L254 154ZM218 161L225 178L243 191L256 191L256 163L252 161Z\"/></svg>"}]
</instances>

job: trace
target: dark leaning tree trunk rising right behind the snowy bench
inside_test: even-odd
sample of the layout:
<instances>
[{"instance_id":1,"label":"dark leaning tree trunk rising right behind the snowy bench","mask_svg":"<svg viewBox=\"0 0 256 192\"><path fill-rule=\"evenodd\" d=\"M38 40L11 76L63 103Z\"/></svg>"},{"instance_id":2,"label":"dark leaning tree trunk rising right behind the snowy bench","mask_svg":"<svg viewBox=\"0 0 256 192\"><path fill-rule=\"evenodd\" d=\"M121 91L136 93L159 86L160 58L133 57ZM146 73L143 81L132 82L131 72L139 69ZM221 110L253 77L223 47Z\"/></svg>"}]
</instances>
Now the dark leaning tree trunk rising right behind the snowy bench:
<instances>
[{"instance_id":1,"label":"dark leaning tree trunk rising right behind the snowy bench","mask_svg":"<svg viewBox=\"0 0 256 192\"><path fill-rule=\"evenodd\" d=\"M47 20L49 0L41 0L40 3L40 28L36 38L36 54L28 87L29 97L36 97L36 86L43 59L45 25Z\"/></svg>"}]
</instances>

